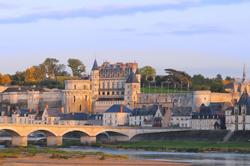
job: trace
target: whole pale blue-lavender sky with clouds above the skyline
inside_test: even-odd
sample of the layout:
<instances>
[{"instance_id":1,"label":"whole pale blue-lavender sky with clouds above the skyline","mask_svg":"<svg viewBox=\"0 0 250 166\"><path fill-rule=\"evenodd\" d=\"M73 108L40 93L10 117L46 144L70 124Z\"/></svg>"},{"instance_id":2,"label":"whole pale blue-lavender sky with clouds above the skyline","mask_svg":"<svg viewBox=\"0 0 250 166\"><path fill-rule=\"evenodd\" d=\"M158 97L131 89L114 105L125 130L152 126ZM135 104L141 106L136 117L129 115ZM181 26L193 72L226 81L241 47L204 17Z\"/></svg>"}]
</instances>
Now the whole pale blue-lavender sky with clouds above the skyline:
<instances>
[{"instance_id":1,"label":"whole pale blue-lavender sky with clouds above the skyline","mask_svg":"<svg viewBox=\"0 0 250 166\"><path fill-rule=\"evenodd\" d=\"M241 77L249 9L250 0L0 0L0 73L53 57L88 71L96 58Z\"/></svg>"}]
</instances>

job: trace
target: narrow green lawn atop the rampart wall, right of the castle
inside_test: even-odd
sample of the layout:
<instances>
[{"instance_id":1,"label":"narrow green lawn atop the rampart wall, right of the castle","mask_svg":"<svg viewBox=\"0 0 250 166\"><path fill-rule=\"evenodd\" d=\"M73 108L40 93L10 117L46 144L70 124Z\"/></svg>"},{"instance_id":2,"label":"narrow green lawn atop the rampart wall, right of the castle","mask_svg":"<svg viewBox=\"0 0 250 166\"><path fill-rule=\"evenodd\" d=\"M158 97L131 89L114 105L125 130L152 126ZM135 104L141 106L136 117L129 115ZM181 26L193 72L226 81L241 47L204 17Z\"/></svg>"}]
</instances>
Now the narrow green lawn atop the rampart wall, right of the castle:
<instances>
[{"instance_id":1,"label":"narrow green lawn atop the rampart wall, right of the castle","mask_svg":"<svg viewBox=\"0 0 250 166\"><path fill-rule=\"evenodd\" d=\"M141 93L188 93L186 89L168 89L168 88L161 88L161 87L143 87L141 88Z\"/></svg>"}]
</instances>

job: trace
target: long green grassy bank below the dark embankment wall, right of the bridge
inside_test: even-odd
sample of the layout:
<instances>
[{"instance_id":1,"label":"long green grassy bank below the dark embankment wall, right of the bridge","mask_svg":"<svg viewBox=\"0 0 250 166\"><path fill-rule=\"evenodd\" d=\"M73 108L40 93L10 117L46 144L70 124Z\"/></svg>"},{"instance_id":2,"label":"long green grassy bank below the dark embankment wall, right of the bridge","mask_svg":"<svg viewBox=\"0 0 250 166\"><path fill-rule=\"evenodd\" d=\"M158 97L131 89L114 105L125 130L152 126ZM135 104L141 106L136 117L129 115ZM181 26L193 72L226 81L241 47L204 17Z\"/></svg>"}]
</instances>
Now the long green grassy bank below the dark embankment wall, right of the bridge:
<instances>
[{"instance_id":1,"label":"long green grassy bank below the dark embankment wall, right of the bridge","mask_svg":"<svg viewBox=\"0 0 250 166\"><path fill-rule=\"evenodd\" d=\"M150 151L176 152L240 152L250 153L249 142L207 142L207 141L139 141L103 145L110 148L143 149Z\"/></svg>"}]
</instances>

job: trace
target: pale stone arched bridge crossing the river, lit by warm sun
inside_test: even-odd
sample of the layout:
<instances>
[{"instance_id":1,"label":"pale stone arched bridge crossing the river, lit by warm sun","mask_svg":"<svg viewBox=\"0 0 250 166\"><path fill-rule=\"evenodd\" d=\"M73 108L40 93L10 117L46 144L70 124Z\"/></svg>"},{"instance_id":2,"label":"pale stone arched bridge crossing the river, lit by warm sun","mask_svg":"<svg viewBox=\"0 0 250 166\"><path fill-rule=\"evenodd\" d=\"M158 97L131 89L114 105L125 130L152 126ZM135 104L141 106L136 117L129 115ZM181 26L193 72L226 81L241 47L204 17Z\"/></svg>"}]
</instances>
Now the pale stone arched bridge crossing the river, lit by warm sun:
<instances>
[{"instance_id":1,"label":"pale stone arched bridge crossing the river, lit by warm sun","mask_svg":"<svg viewBox=\"0 0 250 166\"><path fill-rule=\"evenodd\" d=\"M134 127L110 127L110 126L67 126L67 125L31 125L31 124L0 124L0 131L11 134L12 146L27 146L28 137L35 132L44 132L47 137L47 146L60 146L63 137L71 132L80 132L81 143L95 143L96 137L105 134L109 137L110 132L117 133L118 141L129 141L134 136L147 133L161 133L171 131L183 131L183 129L169 128L134 128Z\"/></svg>"}]
</instances>

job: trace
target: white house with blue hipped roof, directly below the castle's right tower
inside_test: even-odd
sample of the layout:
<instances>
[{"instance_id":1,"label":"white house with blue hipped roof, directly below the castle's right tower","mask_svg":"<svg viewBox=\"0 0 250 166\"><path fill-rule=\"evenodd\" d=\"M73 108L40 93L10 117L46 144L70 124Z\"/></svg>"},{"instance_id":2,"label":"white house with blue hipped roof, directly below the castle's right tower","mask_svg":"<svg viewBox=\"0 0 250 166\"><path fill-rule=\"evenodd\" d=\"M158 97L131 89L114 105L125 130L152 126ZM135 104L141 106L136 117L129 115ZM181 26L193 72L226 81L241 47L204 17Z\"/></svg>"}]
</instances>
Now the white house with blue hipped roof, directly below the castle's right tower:
<instances>
[{"instance_id":1,"label":"white house with blue hipped roof, directly below the castle's right tower","mask_svg":"<svg viewBox=\"0 0 250 166\"><path fill-rule=\"evenodd\" d=\"M132 110L124 105L113 105L103 113L103 125L128 126L131 113Z\"/></svg>"}]
</instances>

